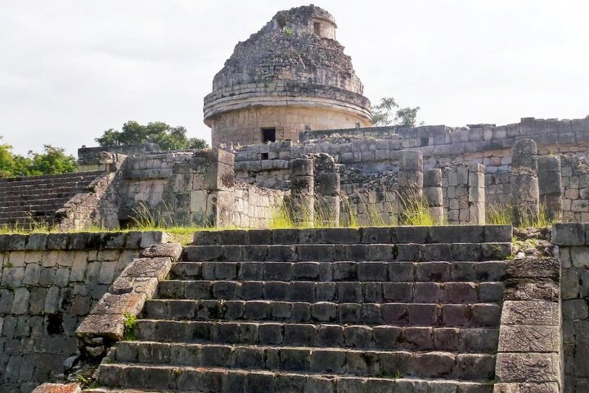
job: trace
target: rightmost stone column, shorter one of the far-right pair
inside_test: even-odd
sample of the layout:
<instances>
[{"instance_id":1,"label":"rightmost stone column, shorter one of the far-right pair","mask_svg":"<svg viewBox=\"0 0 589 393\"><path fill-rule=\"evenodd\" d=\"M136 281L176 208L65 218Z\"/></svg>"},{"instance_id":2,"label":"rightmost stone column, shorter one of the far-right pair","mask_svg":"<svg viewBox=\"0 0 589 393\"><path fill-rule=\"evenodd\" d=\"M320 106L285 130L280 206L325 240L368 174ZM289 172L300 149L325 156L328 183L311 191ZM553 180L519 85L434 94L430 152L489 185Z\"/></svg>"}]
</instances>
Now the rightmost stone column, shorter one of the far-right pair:
<instances>
[{"instance_id":1,"label":"rightmost stone column, shorter one of the far-right pair","mask_svg":"<svg viewBox=\"0 0 589 393\"><path fill-rule=\"evenodd\" d=\"M538 190L541 208L551 221L562 220L562 176L560 157L538 157Z\"/></svg>"}]
</instances>

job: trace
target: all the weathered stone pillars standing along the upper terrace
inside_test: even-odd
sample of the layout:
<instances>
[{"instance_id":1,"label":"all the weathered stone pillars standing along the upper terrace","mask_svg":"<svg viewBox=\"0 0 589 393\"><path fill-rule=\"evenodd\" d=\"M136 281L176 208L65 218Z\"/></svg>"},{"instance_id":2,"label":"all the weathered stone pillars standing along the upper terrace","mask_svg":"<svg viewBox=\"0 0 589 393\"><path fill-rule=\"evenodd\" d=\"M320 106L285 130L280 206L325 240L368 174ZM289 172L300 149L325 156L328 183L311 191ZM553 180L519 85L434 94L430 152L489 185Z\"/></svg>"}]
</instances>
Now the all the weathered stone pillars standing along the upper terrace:
<instances>
[{"instance_id":1,"label":"all the weathered stone pillars standing along the upper terrace","mask_svg":"<svg viewBox=\"0 0 589 393\"><path fill-rule=\"evenodd\" d=\"M320 222L337 226L340 216L340 176L333 157L296 158L290 166L290 212L300 226ZM468 174L469 223L485 223L484 167L472 164ZM532 224L542 213L548 220L562 218L560 158L538 157L536 143L518 140L512 150L511 165L514 224ZM425 201L435 223L444 221L442 171L423 171L421 151L403 151L399 160L401 205Z\"/></svg>"}]
</instances>

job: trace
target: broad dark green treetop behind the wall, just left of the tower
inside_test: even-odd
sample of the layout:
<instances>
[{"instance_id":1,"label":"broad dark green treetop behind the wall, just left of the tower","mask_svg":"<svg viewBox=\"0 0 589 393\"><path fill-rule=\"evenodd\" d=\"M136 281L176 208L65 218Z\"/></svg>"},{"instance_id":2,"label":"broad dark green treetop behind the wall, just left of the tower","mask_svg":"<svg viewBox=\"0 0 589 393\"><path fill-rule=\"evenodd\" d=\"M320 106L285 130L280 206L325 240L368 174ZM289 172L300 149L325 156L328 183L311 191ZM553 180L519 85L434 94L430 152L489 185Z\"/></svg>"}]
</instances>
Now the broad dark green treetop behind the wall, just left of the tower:
<instances>
[{"instance_id":1,"label":"broad dark green treetop behind the wall, just left of the tower","mask_svg":"<svg viewBox=\"0 0 589 393\"><path fill-rule=\"evenodd\" d=\"M110 128L100 138L95 138L100 146L124 146L141 143L157 143L163 150L184 150L187 148L206 148L207 143L199 138L187 138L183 126L171 127L163 121L147 125L137 121L127 121L121 131Z\"/></svg>"}]
</instances>

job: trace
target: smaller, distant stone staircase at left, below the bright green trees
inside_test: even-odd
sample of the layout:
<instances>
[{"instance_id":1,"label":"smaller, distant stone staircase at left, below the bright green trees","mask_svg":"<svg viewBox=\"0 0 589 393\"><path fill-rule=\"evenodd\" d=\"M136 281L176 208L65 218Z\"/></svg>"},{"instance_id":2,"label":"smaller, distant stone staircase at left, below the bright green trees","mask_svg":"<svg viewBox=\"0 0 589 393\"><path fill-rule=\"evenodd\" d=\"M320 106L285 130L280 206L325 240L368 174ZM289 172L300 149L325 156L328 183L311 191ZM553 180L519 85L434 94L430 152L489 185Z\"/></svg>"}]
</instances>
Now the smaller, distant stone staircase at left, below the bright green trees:
<instances>
[{"instance_id":1,"label":"smaller, distant stone staircase at left, below the bright green trees","mask_svg":"<svg viewBox=\"0 0 589 393\"><path fill-rule=\"evenodd\" d=\"M55 212L102 171L0 179L0 226L28 229L51 223Z\"/></svg>"}]
</instances>

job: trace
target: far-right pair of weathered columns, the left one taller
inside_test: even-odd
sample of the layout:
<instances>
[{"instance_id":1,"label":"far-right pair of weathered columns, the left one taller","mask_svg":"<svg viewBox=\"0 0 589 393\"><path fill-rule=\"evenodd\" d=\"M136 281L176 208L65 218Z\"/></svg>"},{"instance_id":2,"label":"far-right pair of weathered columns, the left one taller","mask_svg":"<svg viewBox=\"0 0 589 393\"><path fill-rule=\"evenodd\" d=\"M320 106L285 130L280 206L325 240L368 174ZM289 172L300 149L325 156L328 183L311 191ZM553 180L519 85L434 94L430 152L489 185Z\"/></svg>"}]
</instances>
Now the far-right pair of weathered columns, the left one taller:
<instances>
[{"instance_id":1,"label":"far-right pair of weathered columns, the left one taller","mask_svg":"<svg viewBox=\"0 0 589 393\"><path fill-rule=\"evenodd\" d=\"M562 176L560 158L538 157L536 143L528 138L515 142L511 159L514 225L525 226L562 219Z\"/></svg>"}]
</instances>

